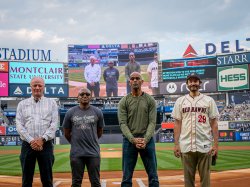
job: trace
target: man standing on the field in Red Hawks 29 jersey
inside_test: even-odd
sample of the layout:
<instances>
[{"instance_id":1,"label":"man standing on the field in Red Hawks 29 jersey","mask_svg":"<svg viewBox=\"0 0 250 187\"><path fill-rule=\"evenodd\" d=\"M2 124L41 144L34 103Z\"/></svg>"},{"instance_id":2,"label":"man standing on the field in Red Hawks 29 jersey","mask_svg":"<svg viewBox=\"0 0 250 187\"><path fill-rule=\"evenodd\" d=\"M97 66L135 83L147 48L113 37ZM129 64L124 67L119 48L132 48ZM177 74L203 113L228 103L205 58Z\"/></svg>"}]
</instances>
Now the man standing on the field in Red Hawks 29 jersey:
<instances>
[{"instance_id":1,"label":"man standing on the field in Red Hawks 29 jersey","mask_svg":"<svg viewBox=\"0 0 250 187\"><path fill-rule=\"evenodd\" d=\"M212 155L218 155L219 112L213 98L199 92L199 75L188 75L186 84L190 92L177 99L172 113L175 119L174 154L182 158L185 187L195 186L196 168L201 187L209 187Z\"/></svg>"}]
</instances>

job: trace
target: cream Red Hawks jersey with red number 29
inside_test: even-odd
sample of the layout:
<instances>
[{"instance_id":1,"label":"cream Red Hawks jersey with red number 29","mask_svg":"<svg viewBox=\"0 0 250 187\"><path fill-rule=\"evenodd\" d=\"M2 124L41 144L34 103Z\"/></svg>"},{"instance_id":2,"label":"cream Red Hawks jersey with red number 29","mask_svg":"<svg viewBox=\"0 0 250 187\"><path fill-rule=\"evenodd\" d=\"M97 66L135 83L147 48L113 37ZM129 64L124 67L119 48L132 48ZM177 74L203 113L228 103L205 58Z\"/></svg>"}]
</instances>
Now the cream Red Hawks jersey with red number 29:
<instances>
[{"instance_id":1,"label":"cream Red Hawks jersey with red number 29","mask_svg":"<svg viewBox=\"0 0 250 187\"><path fill-rule=\"evenodd\" d=\"M213 98L200 94L192 98L189 94L177 99L172 117L181 120L179 138L182 153L207 153L212 146L212 129L209 119L219 116Z\"/></svg>"}]
</instances>

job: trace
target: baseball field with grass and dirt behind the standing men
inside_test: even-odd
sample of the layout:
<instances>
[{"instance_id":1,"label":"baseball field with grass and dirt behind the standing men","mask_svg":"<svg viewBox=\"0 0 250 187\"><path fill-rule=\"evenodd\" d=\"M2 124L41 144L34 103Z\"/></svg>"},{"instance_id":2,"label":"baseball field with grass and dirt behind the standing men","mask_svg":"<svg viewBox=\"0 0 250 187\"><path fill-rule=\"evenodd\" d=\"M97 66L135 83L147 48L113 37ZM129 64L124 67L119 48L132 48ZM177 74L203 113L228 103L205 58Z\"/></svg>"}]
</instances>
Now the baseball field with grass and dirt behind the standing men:
<instances>
[{"instance_id":1,"label":"baseball field with grass and dirt behind the standing men","mask_svg":"<svg viewBox=\"0 0 250 187\"><path fill-rule=\"evenodd\" d=\"M21 167L19 162L20 146L0 147L0 186L21 186ZM71 184L69 145L55 146L54 186L68 187ZM160 186L184 186L181 160L173 155L172 143L157 143L156 154ZM102 186L119 186L122 172L122 145L101 144L101 180ZM220 143L219 158L212 166L212 186L250 185L250 142ZM83 185L90 186L87 172ZM147 175L141 159L138 159L134 173L133 186L147 186ZM34 186L41 186L38 166L34 177ZM199 186L199 177L196 177Z\"/></svg>"}]
</instances>

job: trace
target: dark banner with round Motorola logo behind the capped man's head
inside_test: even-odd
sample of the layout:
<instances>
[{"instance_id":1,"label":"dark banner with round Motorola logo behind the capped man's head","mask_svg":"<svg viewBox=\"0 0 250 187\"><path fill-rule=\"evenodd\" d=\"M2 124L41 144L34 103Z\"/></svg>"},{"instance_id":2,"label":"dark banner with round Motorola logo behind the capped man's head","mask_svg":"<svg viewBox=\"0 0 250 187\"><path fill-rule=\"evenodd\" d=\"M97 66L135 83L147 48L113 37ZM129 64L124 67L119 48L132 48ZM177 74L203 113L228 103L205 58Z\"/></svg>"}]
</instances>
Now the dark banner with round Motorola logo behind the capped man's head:
<instances>
[{"instance_id":1,"label":"dark banner with round Motorola logo behind the capped man's head","mask_svg":"<svg viewBox=\"0 0 250 187\"><path fill-rule=\"evenodd\" d=\"M160 85L160 94L187 94L189 89L187 88L186 81L179 82L162 82ZM216 79L202 80L200 92L216 92L217 91Z\"/></svg>"}]
</instances>

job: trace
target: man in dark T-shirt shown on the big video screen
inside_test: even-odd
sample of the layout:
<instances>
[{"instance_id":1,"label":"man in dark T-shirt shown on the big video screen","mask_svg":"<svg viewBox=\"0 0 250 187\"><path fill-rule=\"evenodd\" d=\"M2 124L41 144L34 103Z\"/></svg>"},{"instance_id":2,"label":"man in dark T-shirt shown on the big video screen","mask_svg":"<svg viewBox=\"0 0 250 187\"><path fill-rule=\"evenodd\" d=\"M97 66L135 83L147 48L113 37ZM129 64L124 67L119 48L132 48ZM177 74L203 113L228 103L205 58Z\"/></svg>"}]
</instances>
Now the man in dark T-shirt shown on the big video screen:
<instances>
[{"instance_id":1,"label":"man in dark T-shirt shown on the big video screen","mask_svg":"<svg viewBox=\"0 0 250 187\"><path fill-rule=\"evenodd\" d=\"M119 71L118 69L114 68L114 61L109 60L108 68L103 72L103 79L106 82L106 93L107 97L118 96L118 84L117 81L119 80Z\"/></svg>"}]
</instances>

